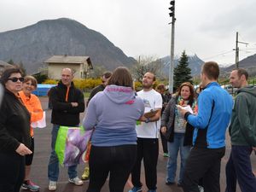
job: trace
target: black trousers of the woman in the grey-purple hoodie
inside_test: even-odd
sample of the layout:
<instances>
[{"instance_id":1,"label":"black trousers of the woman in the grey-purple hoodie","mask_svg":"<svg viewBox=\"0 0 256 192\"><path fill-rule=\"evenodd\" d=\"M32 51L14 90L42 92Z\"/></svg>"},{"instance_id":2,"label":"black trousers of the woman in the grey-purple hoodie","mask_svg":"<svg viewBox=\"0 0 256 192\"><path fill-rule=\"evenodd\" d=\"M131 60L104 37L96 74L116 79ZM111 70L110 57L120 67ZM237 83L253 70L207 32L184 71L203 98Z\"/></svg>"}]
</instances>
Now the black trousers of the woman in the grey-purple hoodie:
<instances>
[{"instance_id":1,"label":"black trousers of the woman in the grey-purple hoodie","mask_svg":"<svg viewBox=\"0 0 256 192\"><path fill-rule=\"evenodd\" d=\"M134 166L137 145L96 147L90 149L90 183L87 192L100 192L109 175L109 191L123 192Z\"/></svg>"}]
</instances>

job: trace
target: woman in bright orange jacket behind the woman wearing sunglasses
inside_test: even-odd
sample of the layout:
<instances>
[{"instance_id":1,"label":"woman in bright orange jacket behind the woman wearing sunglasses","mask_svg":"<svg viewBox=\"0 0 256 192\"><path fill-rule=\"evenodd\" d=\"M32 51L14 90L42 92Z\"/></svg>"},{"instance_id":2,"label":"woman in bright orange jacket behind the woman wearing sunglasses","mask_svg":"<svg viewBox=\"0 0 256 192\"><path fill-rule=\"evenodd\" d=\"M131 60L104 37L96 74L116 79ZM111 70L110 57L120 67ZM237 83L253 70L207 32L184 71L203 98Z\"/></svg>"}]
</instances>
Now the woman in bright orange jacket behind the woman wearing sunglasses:
<instances>
[{"instance_id":1,"label":"woman in bright orange jacket behind the woman wearing sunglasses","mask_svg":"<svg viewBox=\"0 0 256 192\"><path fill-rule=\"evenodd\" d=\"M32 76L26 76L22 85L22 90L20 90L19 95L20 99L26 106L26 109L31 114L31 122L36 122L43 118L43 109L41 106L41 102L38 99L38 96L32 94L33 90L36 90L38 87L38 81ZM26 169L25 169L25 179L21 185L21 189L29 189L31 191L38 191L40 187L29 179L29 175L31 172L31 165L34 154L34 132L32 126L30 127L30 135L31 135L31 150L32 154L26 154Z\"/></svg>"}]
</instances>

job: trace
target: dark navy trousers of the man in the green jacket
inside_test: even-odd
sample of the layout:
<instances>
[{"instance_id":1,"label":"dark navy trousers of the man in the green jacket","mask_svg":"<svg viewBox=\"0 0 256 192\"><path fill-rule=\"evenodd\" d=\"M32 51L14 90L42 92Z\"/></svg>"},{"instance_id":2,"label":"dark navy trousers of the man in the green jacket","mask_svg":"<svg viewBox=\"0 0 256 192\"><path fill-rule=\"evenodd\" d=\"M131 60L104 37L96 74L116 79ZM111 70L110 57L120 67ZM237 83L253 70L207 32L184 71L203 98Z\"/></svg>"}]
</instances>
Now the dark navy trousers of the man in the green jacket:
<instances>
[{"instance_id":1,"label":"dark navy trousers of the man in the green jacket","mask_svg":"<svg viewBox=\"0 0 256 192\"><path fill-rule=\"evenodd\" d=\"M232 145L230 160L226 165L226 192L236 192L236 179L241 192L256 191L256 177L250 160L252 151L253 148L249 146Z\"/></svg>"}]
</instances>

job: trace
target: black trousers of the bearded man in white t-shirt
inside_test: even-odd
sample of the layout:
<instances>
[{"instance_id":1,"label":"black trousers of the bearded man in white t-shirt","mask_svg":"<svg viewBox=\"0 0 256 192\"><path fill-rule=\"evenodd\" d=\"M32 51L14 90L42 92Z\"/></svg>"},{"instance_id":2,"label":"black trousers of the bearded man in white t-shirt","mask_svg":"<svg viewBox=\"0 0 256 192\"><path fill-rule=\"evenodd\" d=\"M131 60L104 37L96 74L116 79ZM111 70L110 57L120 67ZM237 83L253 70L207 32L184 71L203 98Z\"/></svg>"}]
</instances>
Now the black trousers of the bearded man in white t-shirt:
<instances>
[{"instance_id":1,"label":"black trousers of the bearded man in white t-shirt","mask_svg":"<svg viewBox=\"0 0 256 192\"><path fill-rule=\"evenodd\" d=\"M157 138L137 138L137 161L131 172L133 186L141 187L141 165L144 163L146 185L148 190L156 189L157 160L159 143Z\"/></svg>"}]
</instances>

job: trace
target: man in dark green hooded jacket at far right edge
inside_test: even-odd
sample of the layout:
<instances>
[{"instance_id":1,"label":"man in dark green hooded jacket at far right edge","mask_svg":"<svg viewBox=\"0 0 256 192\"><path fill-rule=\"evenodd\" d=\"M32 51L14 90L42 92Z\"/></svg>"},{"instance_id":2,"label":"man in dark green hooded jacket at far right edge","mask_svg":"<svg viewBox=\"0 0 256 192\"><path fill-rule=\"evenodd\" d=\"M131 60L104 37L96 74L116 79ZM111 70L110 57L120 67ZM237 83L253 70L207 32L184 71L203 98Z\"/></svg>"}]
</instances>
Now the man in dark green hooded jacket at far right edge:
<instances>
[{"instance_id":1,"label":"man in dark green hooded jacket at far right edge","mask_svg":"<svg viewBox=\"0 0 256 192\"><path fill-rule=\"evenodd\" d=\"M235 69L230 84L238 88L230 124L231 154L226 165L226 192L236 192L236 179L241 192L255 192L250 154L256 152L256 88L247 84L248 73Z\"/></svg>"}]
</instances>

